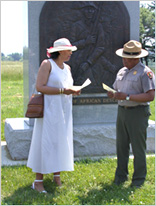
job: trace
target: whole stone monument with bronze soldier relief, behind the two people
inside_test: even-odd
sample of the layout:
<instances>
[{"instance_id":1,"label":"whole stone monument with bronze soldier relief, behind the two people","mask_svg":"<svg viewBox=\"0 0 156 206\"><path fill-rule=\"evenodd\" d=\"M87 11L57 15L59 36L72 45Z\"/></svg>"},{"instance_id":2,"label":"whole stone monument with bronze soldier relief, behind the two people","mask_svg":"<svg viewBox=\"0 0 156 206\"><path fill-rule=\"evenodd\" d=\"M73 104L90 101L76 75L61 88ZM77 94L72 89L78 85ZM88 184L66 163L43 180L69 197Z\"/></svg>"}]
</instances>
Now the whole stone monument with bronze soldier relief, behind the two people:
<instances>
[{"instance_id":1,"label":"whole stone monument with bronze soldier relief, behind the two people","mask_svg":"<svg viewBox=\"0 0 156 206\"><path fill-rule=\"evenodd\" d=\"M46 48L56 39L66 37L78 47L68 62L74 84L81 85L87 78L92 81L80 96L73 98L74 156L98 158L115 154L117 103L107 98L102 83L112 87L122 67L115 51L129 39L139 40L139 2L29 1L28 20L24 110L34 91L39 65L47 58ZM32 136L33 120L20 121L22 129L18 131L14 130L15 120L6 121L6 140L13 159L27 158ZM150 151L154 151L154 125L148 128ZM24 140L24 145L12 144L12 134L12 139L17 137L18 143ZM17 154L18 149L21 155Z\"/></svg>"}]
</instances>

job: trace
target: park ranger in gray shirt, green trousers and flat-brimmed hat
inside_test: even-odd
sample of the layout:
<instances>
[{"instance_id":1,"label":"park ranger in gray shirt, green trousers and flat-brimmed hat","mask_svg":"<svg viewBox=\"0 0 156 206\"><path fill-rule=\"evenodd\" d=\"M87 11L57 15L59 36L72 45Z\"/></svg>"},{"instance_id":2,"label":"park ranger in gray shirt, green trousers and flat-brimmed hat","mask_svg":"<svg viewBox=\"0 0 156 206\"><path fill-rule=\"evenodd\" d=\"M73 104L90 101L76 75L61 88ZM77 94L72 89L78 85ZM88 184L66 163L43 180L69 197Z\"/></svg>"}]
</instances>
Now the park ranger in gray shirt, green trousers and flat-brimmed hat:
<instances>
[{"instance_id":1,"label":"park ranger in gray shirt, green trousers and flat-brimmed hat","mask_svg":"<svg viewBox=\"0 0 156 206\"><path fill-rule=\"evenodd\" d=\"M134 155L134 173L131 186L140 187L146 178L146 131L150 116L149 102L155 96L155 77L143 65L141 57L148 55L140 42L131 40L118 49L124 67L119 70L113 84L115 93L110 98L118 100L117 115L117 169L114 183L120 185L128 179L130 144Z\"/></svg>"}]
</instances>

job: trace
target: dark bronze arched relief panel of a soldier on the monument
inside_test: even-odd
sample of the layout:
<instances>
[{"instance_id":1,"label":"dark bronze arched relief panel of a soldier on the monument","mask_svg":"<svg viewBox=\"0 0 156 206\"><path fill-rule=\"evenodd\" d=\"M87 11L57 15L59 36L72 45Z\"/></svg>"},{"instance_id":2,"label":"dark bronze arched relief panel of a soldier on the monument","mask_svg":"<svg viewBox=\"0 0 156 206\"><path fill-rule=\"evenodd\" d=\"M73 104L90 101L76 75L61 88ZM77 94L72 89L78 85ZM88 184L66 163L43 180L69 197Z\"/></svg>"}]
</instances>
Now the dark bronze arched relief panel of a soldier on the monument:
<instances>
[{"instance_id":1,"label":"dark bronze arched relief panel of a soldier on the monument","mask_svg":"<svg viewBox=\"0 0 156 206\"><path fill-rule=\"evenodd\" d=\"M82 93L103 93L102 82L112 87L122 66L115 51L129 40L130 20L121 1L48 1L40 14L40 62L46 48L62 37L77 46L68 64L75 85L87 78L92 84Z\"/></svg>"}]
</instances>

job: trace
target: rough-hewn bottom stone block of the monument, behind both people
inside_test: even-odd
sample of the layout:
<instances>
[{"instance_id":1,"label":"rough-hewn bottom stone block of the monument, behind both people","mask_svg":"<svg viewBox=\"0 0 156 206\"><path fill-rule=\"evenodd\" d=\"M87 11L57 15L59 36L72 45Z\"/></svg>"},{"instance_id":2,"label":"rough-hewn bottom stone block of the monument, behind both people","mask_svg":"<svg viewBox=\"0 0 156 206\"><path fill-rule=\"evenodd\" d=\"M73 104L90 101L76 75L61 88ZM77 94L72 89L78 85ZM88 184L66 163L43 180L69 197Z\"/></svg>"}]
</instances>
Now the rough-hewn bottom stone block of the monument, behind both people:
<instances>
[{"instance_id":1,"label":"rough-hewn bottom stone block of the monument, behind both people","mask_svg":"<svg viewBox=\"0 0 156 206\"><path fill-rule=\"evenodd\" d=\"M10 118L5 122L5 139L13 160L28 158L33 126L28 118ZM155 122L149 120L147 152L155 152ZM90 123L74 125L74 157L92 158L116 154L116 125Z\"/></svg>"}]
</instances>

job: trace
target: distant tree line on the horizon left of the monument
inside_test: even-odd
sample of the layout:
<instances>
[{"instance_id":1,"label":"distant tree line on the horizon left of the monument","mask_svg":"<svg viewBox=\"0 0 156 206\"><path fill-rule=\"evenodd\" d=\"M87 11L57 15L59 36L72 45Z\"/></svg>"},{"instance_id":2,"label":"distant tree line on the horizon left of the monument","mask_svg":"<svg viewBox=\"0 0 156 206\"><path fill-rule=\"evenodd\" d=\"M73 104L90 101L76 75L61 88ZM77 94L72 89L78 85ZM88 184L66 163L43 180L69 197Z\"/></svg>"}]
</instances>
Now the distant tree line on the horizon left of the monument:
<instances>
[{"instance_id":1,"label":"distant tree line on the horizon left of the monument","mask_svg":"<svg viewBox=\"0 0 156 206\"><path fill-rule=\"evenodd\" d=\"M20 53L12 53L5 56L4 53L1 53L2 61L23 61L23 54Z\"/></svg>"}]
</instances>

